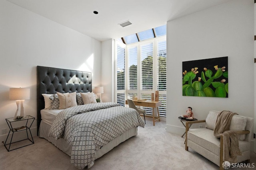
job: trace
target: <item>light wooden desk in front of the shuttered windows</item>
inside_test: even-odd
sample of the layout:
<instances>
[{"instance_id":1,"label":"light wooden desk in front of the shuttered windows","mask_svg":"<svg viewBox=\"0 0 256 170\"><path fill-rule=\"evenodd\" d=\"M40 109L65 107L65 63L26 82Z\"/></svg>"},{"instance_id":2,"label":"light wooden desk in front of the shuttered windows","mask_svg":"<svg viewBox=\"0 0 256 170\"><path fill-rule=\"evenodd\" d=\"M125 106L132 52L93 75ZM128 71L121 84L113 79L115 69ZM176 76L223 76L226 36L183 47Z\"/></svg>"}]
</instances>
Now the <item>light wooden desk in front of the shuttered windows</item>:
<instances>
[{"instance_id":1,"label":"light wooden desk in front of the shuttered windows","mask_svg":"<svg viewBox=\"0 0 256 170\"><path fill-rule=\"evenodd\" d=\"M144 106L144 107L152 107L153 115L148 116L145 115L145 117L150 117L153 119L153 125L155 125L156 121L160 121L160 115L159 115L159 109L158 107L162 105L162 102L152 102L152 101L142 101L138 102L137 100L133 100L134 104L136 106ZM125 101L125 104L128 104L127 100ZM155 109L157 110L157 117L155 117Z\"/></svg>"}]
</instances>

